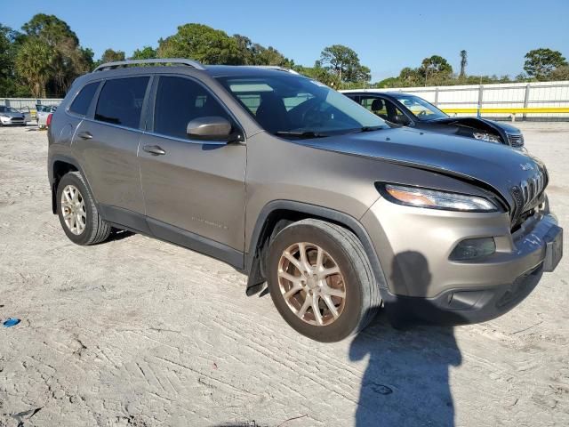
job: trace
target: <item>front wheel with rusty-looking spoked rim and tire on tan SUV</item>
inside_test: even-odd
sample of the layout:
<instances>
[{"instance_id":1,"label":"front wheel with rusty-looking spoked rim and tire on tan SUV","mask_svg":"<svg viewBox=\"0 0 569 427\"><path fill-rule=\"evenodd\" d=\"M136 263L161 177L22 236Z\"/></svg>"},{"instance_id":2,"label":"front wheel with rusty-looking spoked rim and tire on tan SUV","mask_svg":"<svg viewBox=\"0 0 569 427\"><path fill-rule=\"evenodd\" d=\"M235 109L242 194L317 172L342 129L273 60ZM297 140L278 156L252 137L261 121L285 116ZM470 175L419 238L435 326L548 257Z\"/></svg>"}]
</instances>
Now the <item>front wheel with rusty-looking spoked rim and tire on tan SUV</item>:
<instances>
[{"instance_id":1,"label":"front wheel with rusty-looking spoked rim and tire on tan SUV","mask_svg":"<svg viewBox=\"0 0 569 427\"><path fill-rule=\"evenodd\" d=\"M302 252L307 254L304 260ZM302 275L303 266L308 275ZM334 266L338 273L333 273ZM381 306L364 246L354 233L336 224L308 219L279 231L268 248L267 273L276 310L297 332L319 342L337 342L356 334ZM304 310L307 300L310 306Z\"/></svg>"}]
</instances>

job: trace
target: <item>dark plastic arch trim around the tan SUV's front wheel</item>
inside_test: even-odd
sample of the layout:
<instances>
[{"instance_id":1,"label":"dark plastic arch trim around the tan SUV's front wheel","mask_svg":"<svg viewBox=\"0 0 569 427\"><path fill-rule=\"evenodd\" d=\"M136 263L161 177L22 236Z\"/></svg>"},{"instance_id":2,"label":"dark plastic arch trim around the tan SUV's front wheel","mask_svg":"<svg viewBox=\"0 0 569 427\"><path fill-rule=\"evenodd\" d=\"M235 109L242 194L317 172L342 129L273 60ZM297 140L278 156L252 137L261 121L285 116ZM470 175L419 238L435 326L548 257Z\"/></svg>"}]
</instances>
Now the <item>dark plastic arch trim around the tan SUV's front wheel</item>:
<instances>
[{"instance_id":1,"label":"dark plastic arch trim around the tan SUV's front wheel","mask_svg":"<svg viewBox=\"0 0 569 427\"><path fill-rule=\"evenodd\" d=\"M353 232L365 249L365 254L372 264L376 283L387 289L387 281L381 269L380 259L373 247L372 239L361 222L349 214L319 205L296 202L293 200L274 200L261 210L252 230L249 251L244 254L244 268L249 274L247 294L260 291L260 285L266 280L265 264L268 254L268 243L274 233L282 230L288 223L313 218L325 222L333 222Z\"/></svg>"}]
</instances>

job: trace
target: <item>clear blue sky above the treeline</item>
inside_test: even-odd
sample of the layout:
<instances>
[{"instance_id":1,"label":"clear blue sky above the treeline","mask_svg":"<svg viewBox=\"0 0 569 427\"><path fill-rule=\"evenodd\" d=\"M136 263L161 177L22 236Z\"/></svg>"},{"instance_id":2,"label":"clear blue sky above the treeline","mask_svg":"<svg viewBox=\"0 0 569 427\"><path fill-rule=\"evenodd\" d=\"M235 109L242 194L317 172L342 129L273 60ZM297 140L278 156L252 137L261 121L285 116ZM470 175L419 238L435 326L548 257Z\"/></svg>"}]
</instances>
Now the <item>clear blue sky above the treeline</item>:
<instances>
[{"instance_id":1,"label":"clear blue sky above the treeline","mask_svg":"<svg viewBox=\"0 0 569 427\"><path fill-rule=\"evenodd\" d=\"M18 3L18 2L16 2ZM126 52L157 45L184 23L199 22L272 45L310 66L326 45L346 44L372 68L373 81L439 54L469 74L516 76L524 55L549 47L569 58L569 0L336 2L320 0L48 0L3 7L0 23L20 28L35 13L68 22L95 57L108 47Z\"/></svg>"}]
</instances>

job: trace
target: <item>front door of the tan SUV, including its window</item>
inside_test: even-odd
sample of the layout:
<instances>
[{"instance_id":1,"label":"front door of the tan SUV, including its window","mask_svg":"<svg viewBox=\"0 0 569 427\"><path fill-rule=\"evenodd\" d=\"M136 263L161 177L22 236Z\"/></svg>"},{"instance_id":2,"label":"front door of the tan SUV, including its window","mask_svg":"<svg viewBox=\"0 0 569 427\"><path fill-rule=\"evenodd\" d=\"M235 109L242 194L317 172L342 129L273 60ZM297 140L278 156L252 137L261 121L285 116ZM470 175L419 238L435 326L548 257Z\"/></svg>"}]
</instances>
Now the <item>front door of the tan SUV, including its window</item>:
<instances>
[{"instance_id":1,"label":"front door of the tan SUV, including its window","mask_svg":"<svg viewBox=\"0 0 569 427\"><path fill-rule=\"evenodd\" d=\"M149 132L139 151L148 226L159 238L241 265L245 146L186 133L198 117L225 117L238 128L236 120L193 78L155 80Z\"/></svg>"}]
</instances>

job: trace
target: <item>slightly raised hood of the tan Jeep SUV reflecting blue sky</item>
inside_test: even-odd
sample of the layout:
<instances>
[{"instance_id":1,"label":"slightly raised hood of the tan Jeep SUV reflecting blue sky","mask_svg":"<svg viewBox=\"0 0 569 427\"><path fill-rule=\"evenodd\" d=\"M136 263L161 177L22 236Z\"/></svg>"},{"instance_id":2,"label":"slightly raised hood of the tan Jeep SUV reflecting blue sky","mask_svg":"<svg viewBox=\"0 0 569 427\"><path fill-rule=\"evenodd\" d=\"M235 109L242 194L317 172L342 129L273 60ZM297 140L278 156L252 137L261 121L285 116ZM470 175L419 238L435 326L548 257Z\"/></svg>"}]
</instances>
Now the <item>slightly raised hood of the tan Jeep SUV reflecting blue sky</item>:
<instances>
[{"instance_id":1,"label":"slightly raised hood of the tan Jeep SUV reflecting blue sky","mask_svg":"<svg viewBox=\"0 0 569 427\"><path fill-rule=\"evenodd\" d=\"M541 183L534 184L535 194L532 196L528 192L525 197L533 200L547 183L545 166L527 153L493 142L420 132L405 127L311 139L302 143L317 149L373 157L483 182L500 194L510 208L517 205L512 196L513 187L523 188L528 182L541 180ZM524 204L532 200L525 200Z\"/></svg>"}]
</instances>

